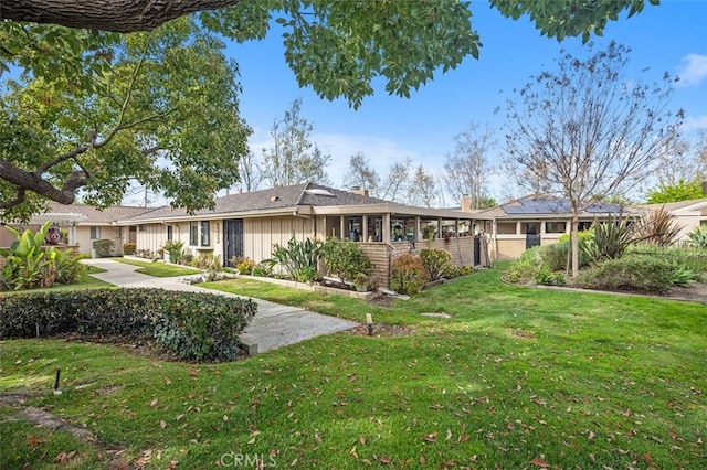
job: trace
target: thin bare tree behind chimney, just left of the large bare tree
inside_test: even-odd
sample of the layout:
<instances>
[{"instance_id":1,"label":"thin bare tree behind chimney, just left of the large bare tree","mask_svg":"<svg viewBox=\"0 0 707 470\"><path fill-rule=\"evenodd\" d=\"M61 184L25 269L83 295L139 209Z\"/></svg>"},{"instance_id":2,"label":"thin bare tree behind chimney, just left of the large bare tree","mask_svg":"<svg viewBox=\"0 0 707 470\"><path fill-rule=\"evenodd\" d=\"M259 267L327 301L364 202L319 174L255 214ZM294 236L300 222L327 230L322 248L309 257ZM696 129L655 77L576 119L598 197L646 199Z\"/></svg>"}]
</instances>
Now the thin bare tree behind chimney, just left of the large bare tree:
<instances>
[{"instance_id":1,"label":"thin bare tree behind chimney, just left of the large bare tree","mask_svg":"<svg viewBox=\"0 0 707 470\"><path fill-rule=\"evenodd\" d=\"M494 132L488 126L472 122L454 141L454 151L444 163L446 188L457 201L468 194L472 209L484 209L489 199L486 185L492 174L488 153L496 145Z\"/></svg>"}]
</instances>

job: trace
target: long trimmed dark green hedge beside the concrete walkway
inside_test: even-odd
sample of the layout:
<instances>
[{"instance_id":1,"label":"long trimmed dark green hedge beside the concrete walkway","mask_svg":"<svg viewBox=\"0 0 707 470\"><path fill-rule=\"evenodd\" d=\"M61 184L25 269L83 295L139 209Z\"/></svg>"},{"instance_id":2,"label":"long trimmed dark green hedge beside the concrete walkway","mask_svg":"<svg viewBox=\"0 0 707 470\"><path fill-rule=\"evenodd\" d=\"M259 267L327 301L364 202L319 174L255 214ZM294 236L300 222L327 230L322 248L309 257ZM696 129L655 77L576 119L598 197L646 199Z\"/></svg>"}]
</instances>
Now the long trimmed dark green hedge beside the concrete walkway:
<instances>
[{"instance_id":1,"label":"long trimmed dark green hedge beside the concrete walkway","mask_svg":"<svg viewBox=\"0 0 707 470\"><path fill-rule=\"evenodd\" d=\"M163 289L22 293L0 300L0 340L80 333L155 340L186 361L231 361L250 299Z\"/></svg>"}]
</instances>

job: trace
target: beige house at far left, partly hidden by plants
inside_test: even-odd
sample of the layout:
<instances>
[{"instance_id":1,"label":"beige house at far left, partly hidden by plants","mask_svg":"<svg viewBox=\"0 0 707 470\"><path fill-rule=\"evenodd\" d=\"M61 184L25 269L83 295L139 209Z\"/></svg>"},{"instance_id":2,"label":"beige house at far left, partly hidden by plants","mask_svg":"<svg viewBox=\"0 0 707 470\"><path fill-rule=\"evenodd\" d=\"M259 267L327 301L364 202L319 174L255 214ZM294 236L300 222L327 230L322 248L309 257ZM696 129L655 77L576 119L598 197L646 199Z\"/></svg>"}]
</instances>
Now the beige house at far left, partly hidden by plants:
<instances>
[{"instance_id":1,"label":"beige house at far left, partly hidden by plants","mask_svg":"<svg viewBox=\"0 0 707 470\"><path fill-rule=\"evenodd\" d=\"M112 206L103 211L85 204L64 205L52 203L44 214L39 214L22 227L36 232L52 221L54 226L66 234L66 244L76 247L76 252L91 255L93 242L109 239L114 243L114 254L123 255L123 245L136 242L137 227L135 225L118 225L118 221L152 211L149 207ZM9 246L14 238L8 231L0 231L0 246Z\"/></svg>"}]
</instances>

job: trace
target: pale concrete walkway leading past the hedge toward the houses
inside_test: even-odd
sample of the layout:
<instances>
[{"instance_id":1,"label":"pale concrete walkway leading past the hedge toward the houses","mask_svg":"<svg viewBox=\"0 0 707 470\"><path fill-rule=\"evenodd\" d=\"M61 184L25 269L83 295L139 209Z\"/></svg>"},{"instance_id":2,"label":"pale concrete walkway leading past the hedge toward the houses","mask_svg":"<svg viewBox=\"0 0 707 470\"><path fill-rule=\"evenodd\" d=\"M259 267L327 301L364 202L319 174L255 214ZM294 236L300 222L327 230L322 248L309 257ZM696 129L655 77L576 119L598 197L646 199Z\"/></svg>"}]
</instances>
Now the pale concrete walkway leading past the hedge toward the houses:
<instances>
[{"instance_id":1,"label":"pale concrete walkway leading past the hedge toward the houses","mask_svg":"<svg viewBox=\"0 0 707 470\"><path fill-rule=\"evenodd\" d=\"M115 286L155 287L184 292L244 297L187 284L183 279L189 276L160 278L135 273L138 266L126 265L109 258L86 259L84 263L105 269L105 273L92 274L92 276ZM354 321L314 313L296 307L282 306L260 299L252 300L257 303L257 312L251 320L251 324L241 334L241 341L247 345L251 355L358 325Z\"/></svg>"}]
</instances>

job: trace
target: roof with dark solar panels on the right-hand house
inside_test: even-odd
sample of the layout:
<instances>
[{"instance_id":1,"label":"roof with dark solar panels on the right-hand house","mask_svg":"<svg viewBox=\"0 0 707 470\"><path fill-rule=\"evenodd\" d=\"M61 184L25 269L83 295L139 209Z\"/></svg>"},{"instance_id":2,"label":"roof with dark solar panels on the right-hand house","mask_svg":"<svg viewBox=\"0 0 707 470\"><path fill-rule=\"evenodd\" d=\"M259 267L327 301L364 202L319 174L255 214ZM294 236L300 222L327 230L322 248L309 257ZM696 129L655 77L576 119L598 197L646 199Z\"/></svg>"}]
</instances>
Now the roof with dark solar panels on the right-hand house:
<instances>
[{"instance_id":1,"label":"roof with dark solar panels on the right-hand house","mask_svg":"<svg viewBox=\"0 0 707 470\"><path fill-rule=\"evenodd\" d=\"M581 216L626 212L626 207L619 204L594 203L587 205ZM532 196L515 199L504 204L484 211L493 217L530 218L571 214L571 205L567 197Z\"/></svg>"}]
</instances>

